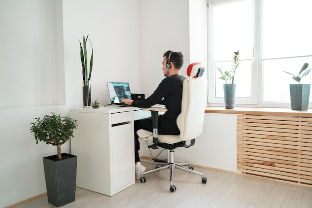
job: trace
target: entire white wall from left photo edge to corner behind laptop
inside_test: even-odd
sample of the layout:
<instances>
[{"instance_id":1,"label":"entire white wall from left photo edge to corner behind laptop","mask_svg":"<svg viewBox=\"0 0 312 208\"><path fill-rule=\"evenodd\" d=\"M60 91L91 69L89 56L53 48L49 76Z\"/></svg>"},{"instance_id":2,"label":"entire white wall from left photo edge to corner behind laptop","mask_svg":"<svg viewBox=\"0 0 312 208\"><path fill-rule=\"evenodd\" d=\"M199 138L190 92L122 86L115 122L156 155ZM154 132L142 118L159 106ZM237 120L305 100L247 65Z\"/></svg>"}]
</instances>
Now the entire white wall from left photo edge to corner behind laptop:
<instances>
[{"instance_id":1,"label":"entire white wall from left photo edge to corner behind laptop","mask_svg":"<svg viewBox=\"0 0 312 208\"><path fill-rule=\"evenodd\" d=\"M46 192L42 157L56 147L37 145L30 122L83 105L83 34L94 49L92 99L109 103L107 81L141 91L139 18L138 0L0 0L0 207Z\"/></svg>"}]
</instances>

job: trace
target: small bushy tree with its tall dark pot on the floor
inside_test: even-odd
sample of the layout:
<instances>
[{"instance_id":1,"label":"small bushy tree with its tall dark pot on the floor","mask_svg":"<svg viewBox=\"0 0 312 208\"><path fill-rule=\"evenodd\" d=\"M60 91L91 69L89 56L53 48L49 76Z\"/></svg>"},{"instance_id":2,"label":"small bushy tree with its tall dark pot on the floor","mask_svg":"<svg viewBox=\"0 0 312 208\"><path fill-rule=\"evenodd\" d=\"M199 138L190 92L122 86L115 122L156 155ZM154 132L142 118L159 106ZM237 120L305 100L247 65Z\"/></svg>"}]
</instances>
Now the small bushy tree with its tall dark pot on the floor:
<instances>
[{"instance_id":1,"label":"small bushy tree with its tall dark pot on the floor","mask_svg":"<svg viewBox=\"0 0 312 208\"><path fill-rule=\"evenodd\" d=\"M52 113L31 123L36 143L43 141L57 147L57 155L43 158L48 202L61 207L75 201L77 156L61 153L61 145L73 137L77 120Z\"/></svg>"}]
</instances>

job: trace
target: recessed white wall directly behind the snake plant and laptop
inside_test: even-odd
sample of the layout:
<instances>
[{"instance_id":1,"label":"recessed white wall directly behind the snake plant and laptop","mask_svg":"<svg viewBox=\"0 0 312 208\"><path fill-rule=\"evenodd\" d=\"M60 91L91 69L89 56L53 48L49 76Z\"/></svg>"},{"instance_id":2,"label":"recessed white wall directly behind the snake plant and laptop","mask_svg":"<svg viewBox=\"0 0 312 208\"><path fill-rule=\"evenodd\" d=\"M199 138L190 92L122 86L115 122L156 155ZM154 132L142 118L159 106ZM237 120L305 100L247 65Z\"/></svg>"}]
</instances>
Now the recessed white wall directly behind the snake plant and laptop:
<instances>
[{"instance_id":1,"label":"recessed white wall directly behind the snake plant and laptop","mask_svg":"<svg viewBox=\"0 0 312 208\"><path fill-rule=\"evenodd\" d=\"M138 0L64 0L63 25L67 103L82 106L79 40L88 34L92 101L110 103L106 82L129 82L133 92L141 91Z\"/></svg>"}]
</instances>

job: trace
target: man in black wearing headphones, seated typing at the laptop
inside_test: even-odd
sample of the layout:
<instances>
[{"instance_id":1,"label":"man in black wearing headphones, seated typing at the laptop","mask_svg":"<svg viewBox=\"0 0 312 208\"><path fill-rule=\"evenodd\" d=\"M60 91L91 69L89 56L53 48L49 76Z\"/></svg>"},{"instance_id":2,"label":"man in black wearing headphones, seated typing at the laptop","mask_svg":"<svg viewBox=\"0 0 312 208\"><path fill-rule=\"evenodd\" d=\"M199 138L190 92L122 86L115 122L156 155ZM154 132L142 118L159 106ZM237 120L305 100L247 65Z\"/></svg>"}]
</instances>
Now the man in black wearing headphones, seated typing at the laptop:
<instances>
[{"instance_id":1,"label":"man in black wearing headphones, seated typing at the laptop","mask_svg":"<svg viewBox=\"0 0 312 208\"><path fill-rule=\"evenodd\" d=\"M133 101L123 99L121 103L133 105L139 108L149 108L161 101L167 111L158 116L158 134L178 135L180 131L176 125L176 118L181 112L182 87L185 77L180 75L180 69L183 65L183 54L181 52L166 51L163 54L162 70L164 78L154 93L145 100ZM164 98L162 100L162 98ZM135 160L136 160L136 179L141 178L141 174L146 168L141 164L139 157L140 142L137 131L145 129L153 132L152 118L146 118L135 121Z\"/></svg>"}]
</instances>

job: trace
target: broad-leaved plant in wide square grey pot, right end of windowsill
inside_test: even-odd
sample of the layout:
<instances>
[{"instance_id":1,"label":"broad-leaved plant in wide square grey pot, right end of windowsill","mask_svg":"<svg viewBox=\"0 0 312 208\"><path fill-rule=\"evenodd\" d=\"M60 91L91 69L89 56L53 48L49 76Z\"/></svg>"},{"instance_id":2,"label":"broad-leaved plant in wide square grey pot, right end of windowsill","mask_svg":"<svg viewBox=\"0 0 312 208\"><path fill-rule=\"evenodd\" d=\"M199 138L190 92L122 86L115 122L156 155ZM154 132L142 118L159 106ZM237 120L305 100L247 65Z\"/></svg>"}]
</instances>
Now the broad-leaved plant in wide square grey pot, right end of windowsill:
<instances>
[{"instance_id":1,"label":"broad-leaved plant in wide square grey pot, right end of windowsill","mask_svg":"<svg viewBox=\"0 0 312 208\"><path fill-rule=\"evenodd\" d=\"M293 76L293 79L299 84L290 84L291 94L291 108L292 110L308 110L309 97L310 97L310 84L300 84L303 77L307 76L311 71L308 69L309 63L304 63L299 71L299 74L295 75L290 72L284 71Z\"/></svg>"}]
</instances>

